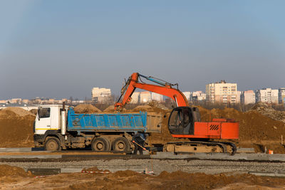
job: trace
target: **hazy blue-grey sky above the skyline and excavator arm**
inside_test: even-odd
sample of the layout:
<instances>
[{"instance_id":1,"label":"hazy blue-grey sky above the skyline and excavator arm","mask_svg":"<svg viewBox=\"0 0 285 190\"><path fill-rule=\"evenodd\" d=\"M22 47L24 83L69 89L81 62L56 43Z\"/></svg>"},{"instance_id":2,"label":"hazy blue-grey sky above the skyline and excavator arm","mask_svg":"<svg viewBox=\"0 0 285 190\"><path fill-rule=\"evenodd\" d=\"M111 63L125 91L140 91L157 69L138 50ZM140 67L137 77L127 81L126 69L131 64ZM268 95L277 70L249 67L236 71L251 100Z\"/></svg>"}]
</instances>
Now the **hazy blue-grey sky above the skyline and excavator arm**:
<instances>
[{"instance_id":1,"label":"hazy blue-grey sky above the skyline and excavator arm","mask_svg":"<svg viewBox=\"0 0 285 190\"><path fill-rule=\"evenodd\" d=\"M132 73L285 87L285 1L0 1L0 100L120 94Z\"/></svg>"}]
</instances>

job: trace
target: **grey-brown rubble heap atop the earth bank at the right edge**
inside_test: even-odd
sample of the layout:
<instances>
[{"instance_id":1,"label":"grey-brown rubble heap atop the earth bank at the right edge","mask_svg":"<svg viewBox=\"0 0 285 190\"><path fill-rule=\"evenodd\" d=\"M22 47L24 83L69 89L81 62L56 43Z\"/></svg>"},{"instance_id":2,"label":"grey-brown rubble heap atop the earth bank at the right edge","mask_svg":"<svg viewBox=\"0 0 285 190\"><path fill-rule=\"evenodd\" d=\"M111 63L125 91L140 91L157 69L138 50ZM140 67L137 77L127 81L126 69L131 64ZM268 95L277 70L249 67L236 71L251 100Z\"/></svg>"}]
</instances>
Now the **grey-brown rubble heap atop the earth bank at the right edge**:
<instances>
[{"instance_id":1,"label":"grey-brown rubble heap atop the earth bank at the right edge","mask_svg":"<svg viewBox=\"0 0 285 190\"><path fill-rule=\"evenodd\" d=\"M249 112L253 111L259 112L261 115L270 117L272 120L285 122L285 112L276 111L266 103L258 102L251 108L251 110L249 110Z\"/></svg>"}]
</instances>

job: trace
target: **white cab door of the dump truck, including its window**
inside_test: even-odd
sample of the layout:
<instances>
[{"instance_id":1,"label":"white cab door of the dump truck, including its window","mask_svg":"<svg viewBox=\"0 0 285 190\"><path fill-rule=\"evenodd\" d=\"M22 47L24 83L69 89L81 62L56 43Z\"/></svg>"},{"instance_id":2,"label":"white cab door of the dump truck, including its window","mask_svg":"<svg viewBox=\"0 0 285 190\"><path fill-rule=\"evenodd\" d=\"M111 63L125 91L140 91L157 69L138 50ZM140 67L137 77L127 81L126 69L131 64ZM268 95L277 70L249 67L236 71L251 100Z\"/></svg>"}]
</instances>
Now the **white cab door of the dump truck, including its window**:
<instances>
[{"instance_id":1,"label":"white cab door of the dump truck, including its window","mask_svg":"<svg viewBox=\"0 0 285 190\"><path fill-rule=\"evenodd\" d=\"M38 125L36 130L51 129L51 107L40 107L38 109Z\"/></svg>"}]
</instances>

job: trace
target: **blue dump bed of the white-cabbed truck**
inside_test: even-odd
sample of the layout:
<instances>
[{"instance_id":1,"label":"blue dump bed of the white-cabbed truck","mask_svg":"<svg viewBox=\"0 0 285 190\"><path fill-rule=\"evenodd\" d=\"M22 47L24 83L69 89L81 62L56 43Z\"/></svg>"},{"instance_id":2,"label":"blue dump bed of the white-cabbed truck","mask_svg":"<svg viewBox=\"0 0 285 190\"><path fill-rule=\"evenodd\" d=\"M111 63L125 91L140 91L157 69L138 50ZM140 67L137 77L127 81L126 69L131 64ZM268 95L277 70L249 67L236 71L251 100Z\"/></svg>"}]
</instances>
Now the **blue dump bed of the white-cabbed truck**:
<instances>
[{"instance_id":1,"label":"blue dump bed of the white-cabbed truck","mask_svg":"<svg viewBox=\"0 0 285 190\"><path fill-rule=\"evenodd\" d=\"M150 127L153 121L147 122L147 112L76 114L73 107L70 107L67 121L68 131L152 132L153 127ZM154 130L160 129L155 126Z\"/></svg>"}]
</instances>

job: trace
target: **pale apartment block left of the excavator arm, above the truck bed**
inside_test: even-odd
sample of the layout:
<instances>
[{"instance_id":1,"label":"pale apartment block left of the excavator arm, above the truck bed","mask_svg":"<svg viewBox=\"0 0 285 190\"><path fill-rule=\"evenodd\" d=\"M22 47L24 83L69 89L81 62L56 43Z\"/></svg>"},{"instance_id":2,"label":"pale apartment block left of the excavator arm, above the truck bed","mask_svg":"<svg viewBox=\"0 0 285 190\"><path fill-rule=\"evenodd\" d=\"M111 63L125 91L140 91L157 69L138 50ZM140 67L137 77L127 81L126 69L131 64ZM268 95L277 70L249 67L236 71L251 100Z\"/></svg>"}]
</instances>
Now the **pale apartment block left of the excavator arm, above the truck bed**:
<instances>
[{"instance_id":1,"label":"pale apartment block left of the excavator arm, above the truck bed","mask_svg":"<svg viewBox=\"0 0 285 190\"><path fill-rule=\"evenodd\" d=\"M111 98L110 88L92 88L92 102L104 103Z\"/></svg>"}]
</instances>

